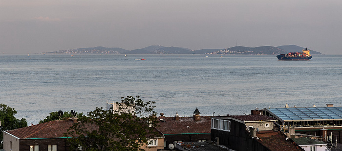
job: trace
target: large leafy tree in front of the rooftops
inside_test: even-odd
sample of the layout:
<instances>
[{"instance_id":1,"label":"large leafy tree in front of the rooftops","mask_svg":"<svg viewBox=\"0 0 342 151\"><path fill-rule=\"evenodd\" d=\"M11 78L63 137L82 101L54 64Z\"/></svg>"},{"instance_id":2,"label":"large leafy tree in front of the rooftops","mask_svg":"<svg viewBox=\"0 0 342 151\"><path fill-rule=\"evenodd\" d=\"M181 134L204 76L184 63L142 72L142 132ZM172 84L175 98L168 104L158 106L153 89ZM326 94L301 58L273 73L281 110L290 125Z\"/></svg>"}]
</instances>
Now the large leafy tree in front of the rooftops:
<instances>
[{"instance_id":1,"label":"large leafy tree in front of the rooftops","mask_svg":"<svg viewBox=\"0 0 342 151\"><path fill-rule=\"evenodd\" d=\"M117 110L96 108L82 116L65 135L71 151L144 151L142 145L158 136L155 102L139 96L122 97Z\"/></svg>"}]
</instances>

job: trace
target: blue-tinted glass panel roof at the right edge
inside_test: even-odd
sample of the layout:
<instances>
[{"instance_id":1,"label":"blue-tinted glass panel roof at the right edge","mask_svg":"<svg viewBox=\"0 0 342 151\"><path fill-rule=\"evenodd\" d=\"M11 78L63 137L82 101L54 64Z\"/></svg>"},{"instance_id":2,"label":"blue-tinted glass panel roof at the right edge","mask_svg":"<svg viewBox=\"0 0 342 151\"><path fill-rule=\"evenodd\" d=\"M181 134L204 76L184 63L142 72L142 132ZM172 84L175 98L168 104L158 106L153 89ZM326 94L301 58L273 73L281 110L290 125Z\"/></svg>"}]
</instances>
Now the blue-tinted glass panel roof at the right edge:
<instances>
[{"instance_id":1,"label":"blue-tinted glass panel roof at the right edge","mask_svg":"<svg viewBox=\"0 0 342 151\"><path fill-rule=\"evenodd\" d=\"M342 107L265 109L281 121L342 120Z\"/></svg>"}]
</instances>

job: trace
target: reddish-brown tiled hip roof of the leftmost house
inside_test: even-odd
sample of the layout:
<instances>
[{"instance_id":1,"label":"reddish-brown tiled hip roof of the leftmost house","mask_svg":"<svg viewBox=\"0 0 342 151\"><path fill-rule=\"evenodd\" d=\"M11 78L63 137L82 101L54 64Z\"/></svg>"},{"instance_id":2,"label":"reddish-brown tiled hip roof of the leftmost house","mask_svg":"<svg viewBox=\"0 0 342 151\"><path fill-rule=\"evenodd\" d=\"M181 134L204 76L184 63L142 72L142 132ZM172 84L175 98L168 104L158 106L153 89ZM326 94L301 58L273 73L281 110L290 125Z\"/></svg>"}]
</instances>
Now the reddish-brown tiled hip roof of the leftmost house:
<instances>
[{"instance_id":1,"label":"reddish-brown tiled hip roof of the leftmost house","mask_svg":"<svg viewBox=\"0 0 342 151\"><path fill-rule=\"evenodd\" d=\"M20 138L60 138L74 122L72 120L56 120L45 122L21 129L7 130L6 132Z\"/></svg>"}]
</instances>

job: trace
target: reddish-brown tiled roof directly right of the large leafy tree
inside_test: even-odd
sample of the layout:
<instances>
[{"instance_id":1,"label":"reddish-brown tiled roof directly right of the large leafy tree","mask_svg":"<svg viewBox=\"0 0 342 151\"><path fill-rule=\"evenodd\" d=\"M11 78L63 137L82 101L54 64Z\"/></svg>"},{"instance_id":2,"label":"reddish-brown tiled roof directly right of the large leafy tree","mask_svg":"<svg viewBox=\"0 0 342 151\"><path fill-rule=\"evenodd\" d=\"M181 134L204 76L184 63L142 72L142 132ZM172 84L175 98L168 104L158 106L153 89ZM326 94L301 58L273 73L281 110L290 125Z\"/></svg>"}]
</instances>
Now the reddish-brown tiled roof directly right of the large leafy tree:
<instances>
[{"instance_id":1,"label":"reddish-brown tiled roof directly right of the large leafy tree","mask_svg":"<svg viewBox=\"0 0 342 151\"><path fill-rule=\"evenodd\" d=\"M157 129L164 134L210 133L211 129L211 116L201 116L200 121L195 121L193 117L179 117L179 121L174 117L159 119L163 120Z\"/></svg>"}]
</instances>

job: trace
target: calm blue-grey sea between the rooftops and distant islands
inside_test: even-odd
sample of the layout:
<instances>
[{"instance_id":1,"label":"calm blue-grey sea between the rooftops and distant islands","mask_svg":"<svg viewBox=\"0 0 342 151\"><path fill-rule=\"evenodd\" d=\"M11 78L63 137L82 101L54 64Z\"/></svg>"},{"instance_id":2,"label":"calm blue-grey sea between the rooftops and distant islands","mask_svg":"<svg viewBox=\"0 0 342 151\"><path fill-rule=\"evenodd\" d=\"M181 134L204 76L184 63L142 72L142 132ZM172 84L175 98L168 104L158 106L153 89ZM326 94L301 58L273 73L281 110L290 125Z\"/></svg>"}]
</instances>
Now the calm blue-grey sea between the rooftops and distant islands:
<instances>
[{"instance_id":1,"label":"calm blue-grey sea between the rooftops and distant islands","mask_svg":"<svg viewBox=\"0 0 342 151\"><path fill-rule=\"evenodd\" d=\"M140 60L145 58L146 60ZM342 106L342 56L2 55L0 103L37 124L50 112L87 113L122 96L156 101L165 116L243 115L255 108Z\"/></svg>"}]
</instances>

